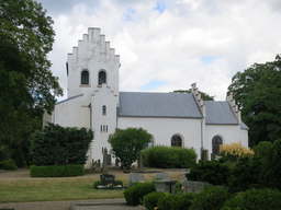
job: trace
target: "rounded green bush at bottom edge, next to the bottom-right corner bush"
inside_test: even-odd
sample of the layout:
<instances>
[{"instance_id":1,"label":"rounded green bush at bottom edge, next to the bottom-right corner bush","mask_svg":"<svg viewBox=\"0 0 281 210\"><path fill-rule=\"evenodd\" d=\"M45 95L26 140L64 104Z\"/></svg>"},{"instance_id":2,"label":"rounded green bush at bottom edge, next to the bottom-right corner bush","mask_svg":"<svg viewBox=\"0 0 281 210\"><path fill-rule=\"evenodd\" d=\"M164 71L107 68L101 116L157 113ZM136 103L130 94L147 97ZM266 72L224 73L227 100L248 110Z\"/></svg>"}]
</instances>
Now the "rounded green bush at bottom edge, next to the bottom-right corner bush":
<instances>
[{"instance_id":1,"label":"rounded green bush at bottom edge, next to the bottom-right corner bush","mask_svg":"<svg viewBox=\"0 0 281 210\"><path fill-rule=\"evenodd\" d=\"M207 187L194 197L189 210L220 210L232 194L224 187Z\"/></svg>"}]
</instances>

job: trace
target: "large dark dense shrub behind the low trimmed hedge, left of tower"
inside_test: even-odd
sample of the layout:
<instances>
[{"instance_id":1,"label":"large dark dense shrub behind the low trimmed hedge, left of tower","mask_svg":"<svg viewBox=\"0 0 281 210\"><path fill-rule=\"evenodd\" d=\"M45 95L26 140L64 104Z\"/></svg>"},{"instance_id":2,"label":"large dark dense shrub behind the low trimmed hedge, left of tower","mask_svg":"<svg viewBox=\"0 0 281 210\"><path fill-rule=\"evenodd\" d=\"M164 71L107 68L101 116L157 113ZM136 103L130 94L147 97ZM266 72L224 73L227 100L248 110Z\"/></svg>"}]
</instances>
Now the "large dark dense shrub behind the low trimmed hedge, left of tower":
<instances>
[{"instance_id":1,"label":"large dark dense shrub behind the low trimmed hedge, left of tower","mask_svg":"<svg viewBox=\"0 0 281 210\"><path fill-rule=\"evenodd\" d=\"M32 163L41 165L85 164L93 131L48 124L31 139Z\"/></svg>"}]
</instances>

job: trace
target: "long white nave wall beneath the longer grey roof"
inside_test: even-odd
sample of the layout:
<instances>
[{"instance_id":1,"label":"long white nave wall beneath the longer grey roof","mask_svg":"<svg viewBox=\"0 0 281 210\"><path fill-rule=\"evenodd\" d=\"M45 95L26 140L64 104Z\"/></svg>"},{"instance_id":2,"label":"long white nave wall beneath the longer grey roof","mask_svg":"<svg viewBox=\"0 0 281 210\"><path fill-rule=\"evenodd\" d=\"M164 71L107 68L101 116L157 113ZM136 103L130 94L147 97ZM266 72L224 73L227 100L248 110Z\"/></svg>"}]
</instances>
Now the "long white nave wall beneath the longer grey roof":
<instances>
[{"instance_id":1,"label":"long white nave wall beneath the longer grey roof","mask_svg":"<svg viewBox=\"0 0 281 210\"><path fill-rule=\"evenodd\" d=\"M183 147L193 147L199 155L201 147L201 119L119 117L117 128L144 128L154 137L154 144L171 145L171 137L182 137Z\"/></svg>"}]
</instances>

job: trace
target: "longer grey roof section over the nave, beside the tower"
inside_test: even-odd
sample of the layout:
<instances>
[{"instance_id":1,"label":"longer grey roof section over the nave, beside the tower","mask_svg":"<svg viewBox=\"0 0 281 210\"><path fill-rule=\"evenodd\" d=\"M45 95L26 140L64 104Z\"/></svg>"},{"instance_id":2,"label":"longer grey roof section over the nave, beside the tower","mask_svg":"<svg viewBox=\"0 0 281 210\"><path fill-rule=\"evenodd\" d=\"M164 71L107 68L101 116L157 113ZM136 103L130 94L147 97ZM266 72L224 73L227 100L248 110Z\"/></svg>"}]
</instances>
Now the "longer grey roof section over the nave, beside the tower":
<instances>
[{"instance_id":1,"label":"longer grey roof section over the nave, beside the tower","mask_svg":"<svg viewBox=\"0 0 281 210\"><path fill-rule=\"evenodd\" d=\"M120 117L202 118L192 94L120 92Z\"/></svg>"}]
</instances>

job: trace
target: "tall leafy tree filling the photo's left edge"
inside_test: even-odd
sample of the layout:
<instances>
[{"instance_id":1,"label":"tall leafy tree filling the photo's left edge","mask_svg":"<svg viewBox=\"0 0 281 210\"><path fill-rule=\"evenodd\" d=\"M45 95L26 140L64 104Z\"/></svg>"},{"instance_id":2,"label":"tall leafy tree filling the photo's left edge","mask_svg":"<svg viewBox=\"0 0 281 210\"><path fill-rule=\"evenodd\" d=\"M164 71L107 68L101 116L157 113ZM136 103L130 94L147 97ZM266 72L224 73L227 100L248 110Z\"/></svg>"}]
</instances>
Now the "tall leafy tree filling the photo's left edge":
<instances>
[{"instance_id":1,"label":"tall leafy tree filling the photo's left edge","mask_svg":"<svg viewBox=\"0 0 281 210\"><path fill-rule=\"evenodd\" d=\"M0 156L41 127L44 109L50 113L63 95L47 60L53 24L36 1L0 1Z\"/></svg>"}]
</instances>

